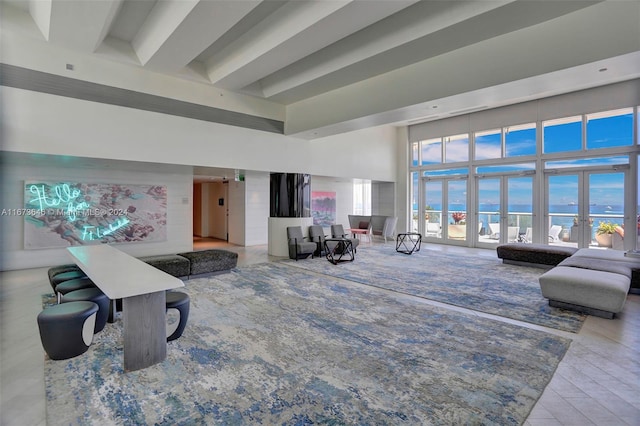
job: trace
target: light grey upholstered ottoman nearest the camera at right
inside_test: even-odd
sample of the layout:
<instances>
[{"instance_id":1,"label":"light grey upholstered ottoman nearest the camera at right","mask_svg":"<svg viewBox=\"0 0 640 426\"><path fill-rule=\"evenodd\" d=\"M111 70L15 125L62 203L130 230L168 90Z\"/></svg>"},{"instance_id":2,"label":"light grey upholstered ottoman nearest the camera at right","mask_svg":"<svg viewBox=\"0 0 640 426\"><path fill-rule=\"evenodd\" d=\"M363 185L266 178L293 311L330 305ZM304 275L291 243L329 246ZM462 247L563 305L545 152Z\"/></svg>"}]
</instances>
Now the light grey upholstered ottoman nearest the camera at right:
<instances>
[{"instance_id":1,"label":"light grey upholstered ottoman nearest the camera at right","mask_svg":"<svg viewBox=\"0 0 640 426\"><path fill-rule=\"evenodd\" d=\"M556 266L539 278L549 305L613 318L627 300L630 279L613 272Z\"/></svg>"}]
</instances>

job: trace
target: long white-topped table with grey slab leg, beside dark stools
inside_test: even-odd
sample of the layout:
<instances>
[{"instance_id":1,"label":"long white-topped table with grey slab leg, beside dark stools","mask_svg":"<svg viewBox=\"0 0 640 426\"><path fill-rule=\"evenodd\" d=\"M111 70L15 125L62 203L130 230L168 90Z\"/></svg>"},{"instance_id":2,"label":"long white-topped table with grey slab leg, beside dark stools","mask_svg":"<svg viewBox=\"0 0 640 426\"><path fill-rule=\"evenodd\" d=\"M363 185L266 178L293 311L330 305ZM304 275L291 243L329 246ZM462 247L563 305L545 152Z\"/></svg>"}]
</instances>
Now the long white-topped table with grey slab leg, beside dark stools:
<instances>
[{"instance_id":1,"label":"long white-topped table with grey slab leg, beside dark stools","mask_svg":"<svg viewBox=\"0 0 640 426\"><path fill-rule=\"evenodd\" d=\"M184 283L106 244L67 250L109 299L122 299L124 370L139 370L164 361L165 291L184 287Z\"/></svg>"}]
</instances>

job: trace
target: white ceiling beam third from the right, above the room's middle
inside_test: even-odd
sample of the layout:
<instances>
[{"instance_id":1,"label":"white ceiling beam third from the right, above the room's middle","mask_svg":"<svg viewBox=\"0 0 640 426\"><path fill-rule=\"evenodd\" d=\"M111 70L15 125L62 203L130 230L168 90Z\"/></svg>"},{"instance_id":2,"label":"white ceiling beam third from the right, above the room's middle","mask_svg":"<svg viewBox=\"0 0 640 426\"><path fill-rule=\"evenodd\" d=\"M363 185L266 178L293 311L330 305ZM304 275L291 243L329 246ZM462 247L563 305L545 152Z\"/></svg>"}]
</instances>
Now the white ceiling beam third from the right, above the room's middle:
<instances>
[{"instance_id":1,"label":"white ceiling beam third from the right, above the room's middle","mask_svg":"<svg viewBox=\"0 0 640 426\"><path fill-rule=\"evenodd\" d=\"M243 89L416 2L291 2L212 58L209 78L217 87Z\"/></svg>"}]
</instances>

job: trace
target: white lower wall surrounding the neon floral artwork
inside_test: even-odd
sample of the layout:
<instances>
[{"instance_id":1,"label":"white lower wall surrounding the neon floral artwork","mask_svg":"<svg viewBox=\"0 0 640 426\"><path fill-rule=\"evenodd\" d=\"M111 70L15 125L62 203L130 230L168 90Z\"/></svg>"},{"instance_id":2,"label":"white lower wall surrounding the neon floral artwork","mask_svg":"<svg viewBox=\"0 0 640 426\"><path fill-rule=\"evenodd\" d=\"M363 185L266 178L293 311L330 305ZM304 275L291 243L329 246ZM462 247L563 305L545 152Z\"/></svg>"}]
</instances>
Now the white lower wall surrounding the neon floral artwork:
<instances>
[{"instance_id":1,"label":"white lower wall surrounding the neon floral artwork","mask_svg":"<svg viewBox=\"0 0 640 426\"><path fill-rule=\"evenodd\" d=\"M70 160L70 163L73 163ZM2 208L19 209L24 206L26 180L79 181L87 183L121 183L165 185L167 187L167 239L151 243L118 244L118 249L133 256L177 253L193 249L192 192L193 175L184 173L147 173L117 169L82 167L36 166L3 164ZM26 269L70 263L64 248L24 249L24 218L0 216L2 235L0 270Z\"/></svg>"}]
</instances>

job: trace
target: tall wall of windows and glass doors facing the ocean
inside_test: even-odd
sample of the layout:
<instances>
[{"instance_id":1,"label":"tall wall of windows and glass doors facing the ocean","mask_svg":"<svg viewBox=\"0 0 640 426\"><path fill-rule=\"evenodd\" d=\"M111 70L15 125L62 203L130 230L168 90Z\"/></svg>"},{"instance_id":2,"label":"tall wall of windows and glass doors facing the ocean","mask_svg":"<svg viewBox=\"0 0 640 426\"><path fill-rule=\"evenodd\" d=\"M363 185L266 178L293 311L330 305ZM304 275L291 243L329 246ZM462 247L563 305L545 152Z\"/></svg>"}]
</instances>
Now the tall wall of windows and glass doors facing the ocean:
<instances>
[{"instance_id":1,"label":"tall wall of windows and glass doors facing the ocean","mask_svg":"<svg viewBox=\"0 0 640 426\"><path fill-rule=\"evenodd\" d=\"M477 247L635 248L637 107L580 113L574 103L566 108L573 114L561 114L558 105L544 120L535 108L527 120L526 107L513 107L483 113L484 128L476 114L410 129L422 136L410 142L412 229L428 241ZM519 118L504 119L510 114Z\"/></svg>"}]
</instances>

